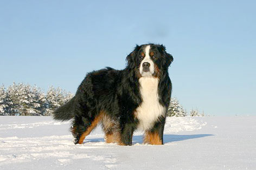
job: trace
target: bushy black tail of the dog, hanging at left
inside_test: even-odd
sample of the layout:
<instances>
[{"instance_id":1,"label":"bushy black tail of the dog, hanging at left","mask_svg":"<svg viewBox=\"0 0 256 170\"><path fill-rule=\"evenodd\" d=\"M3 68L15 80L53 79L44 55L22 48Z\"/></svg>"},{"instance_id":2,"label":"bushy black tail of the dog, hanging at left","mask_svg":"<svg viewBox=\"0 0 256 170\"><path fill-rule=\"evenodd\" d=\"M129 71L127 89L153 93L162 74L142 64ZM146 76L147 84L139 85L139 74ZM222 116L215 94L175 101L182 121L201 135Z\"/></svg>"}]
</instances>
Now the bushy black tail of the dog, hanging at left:
<instances>
[{"instance_id":1,"label":"bushy black tail of the dog, hanging at left","mask_svg":"<svg viewBox=\"0 0 256 170\"><path fill-rule=\"evenodd\" d=\"M53 112L53 118L55 120L67 121L74 117L74 102L75 97L63 104Z\"/></svg>"}]
</instances>

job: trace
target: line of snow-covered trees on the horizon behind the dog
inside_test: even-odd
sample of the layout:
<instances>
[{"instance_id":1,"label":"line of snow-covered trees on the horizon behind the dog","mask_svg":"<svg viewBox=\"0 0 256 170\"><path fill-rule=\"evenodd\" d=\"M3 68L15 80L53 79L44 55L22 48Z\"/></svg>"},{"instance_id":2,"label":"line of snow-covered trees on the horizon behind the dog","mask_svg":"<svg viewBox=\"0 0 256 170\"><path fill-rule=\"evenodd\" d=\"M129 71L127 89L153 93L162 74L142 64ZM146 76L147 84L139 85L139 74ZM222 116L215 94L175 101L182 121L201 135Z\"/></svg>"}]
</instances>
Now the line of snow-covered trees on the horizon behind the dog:
<instances>
[{"instance_id":1,"label":"line of snow-covered trees on the horizon behind the dog","mask_svg":"<svg viewBox=\"0 0 256 170\"><path fill-rule=\"evenodd\" d=\"M50 86L46 93L37 86L15 82L7 89L0 87L0 115L49 116L74 95L60 87ZM167 116L187 116L188 113L176 98L170 100ZM204 116L198 110L190 110L190 116Z\"/></svg>"}]
</instances>

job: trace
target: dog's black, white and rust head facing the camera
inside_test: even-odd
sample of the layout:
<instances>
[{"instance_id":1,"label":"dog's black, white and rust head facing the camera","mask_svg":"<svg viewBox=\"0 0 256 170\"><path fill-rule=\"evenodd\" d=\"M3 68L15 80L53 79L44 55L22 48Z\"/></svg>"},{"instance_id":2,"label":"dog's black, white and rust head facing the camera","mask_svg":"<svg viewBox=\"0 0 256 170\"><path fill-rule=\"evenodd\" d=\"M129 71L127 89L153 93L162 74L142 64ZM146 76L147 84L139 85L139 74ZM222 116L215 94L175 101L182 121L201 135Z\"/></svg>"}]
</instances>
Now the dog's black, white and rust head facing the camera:
<instances>
[{"instance_id":1,"label":"dog's black, white and rust head facing the camera","mask_svg":"<svg viewBox=\"0 0 256 170\"><path fill-rule=\"evenodd\" d=\"M172 55L165 51L164 45L158 44L137 45L126 57L127 68L134 69L138 77L160 77L173 60Z\"/></svg>"}]
</instances>

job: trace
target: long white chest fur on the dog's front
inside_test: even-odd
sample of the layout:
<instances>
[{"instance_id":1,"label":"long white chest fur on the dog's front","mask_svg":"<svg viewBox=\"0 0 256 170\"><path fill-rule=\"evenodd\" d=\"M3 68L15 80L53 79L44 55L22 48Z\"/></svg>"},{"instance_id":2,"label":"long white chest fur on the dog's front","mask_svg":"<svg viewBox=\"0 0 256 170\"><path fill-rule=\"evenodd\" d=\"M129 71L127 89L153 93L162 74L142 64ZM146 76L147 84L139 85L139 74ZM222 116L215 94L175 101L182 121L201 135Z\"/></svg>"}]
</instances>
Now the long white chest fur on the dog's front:
<instances>
[{"instance_id":1,"label":"long white chest fur on the dog's front","mask_svg":"<svg viewBox=\"0 0 256 170\"><path fill-rule=\"evenodd\" d=\"M157 78L141 77L139 83L142 104L136 109L136 116L139 120L138 128L147 130L153 126L159 116L164 114L165 107L159 103Z\"/></svg>"}]
</instances>

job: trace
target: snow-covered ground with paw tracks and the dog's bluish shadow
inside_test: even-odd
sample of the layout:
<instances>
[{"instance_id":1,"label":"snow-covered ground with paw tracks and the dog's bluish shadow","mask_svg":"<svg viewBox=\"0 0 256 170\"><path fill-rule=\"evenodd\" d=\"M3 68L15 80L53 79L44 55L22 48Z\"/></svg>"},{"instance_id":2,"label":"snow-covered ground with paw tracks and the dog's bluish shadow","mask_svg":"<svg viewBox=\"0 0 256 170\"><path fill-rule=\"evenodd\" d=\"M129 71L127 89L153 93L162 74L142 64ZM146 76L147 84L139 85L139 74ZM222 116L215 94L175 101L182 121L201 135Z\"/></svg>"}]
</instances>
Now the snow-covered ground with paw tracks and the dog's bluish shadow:
<instances>
[{"instance_id":1,"label":"snow-covered ground with paw tracks and the dog's bluish shadow","mask_svg":"<svg viewBox=\"0 0 256 170\"><path fill-rule=\"evenodd\" d=\"M106 144L97 127L82 145L69 122L0 116L0 169L256 169L256 116L168 117L164 145Z\"/></svg>"}]
</instances>

